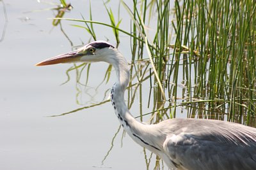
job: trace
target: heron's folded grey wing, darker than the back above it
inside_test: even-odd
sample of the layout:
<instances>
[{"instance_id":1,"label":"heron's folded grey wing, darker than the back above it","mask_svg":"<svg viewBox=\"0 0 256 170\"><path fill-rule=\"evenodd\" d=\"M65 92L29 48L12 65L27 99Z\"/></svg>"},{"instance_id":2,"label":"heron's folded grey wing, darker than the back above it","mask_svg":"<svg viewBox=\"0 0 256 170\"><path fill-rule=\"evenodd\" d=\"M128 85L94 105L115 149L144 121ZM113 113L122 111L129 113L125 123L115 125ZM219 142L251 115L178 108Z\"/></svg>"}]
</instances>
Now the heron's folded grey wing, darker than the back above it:
<instances>
[{"instance_id":1,"label":"heron's folded grey wing, darker than the back above it","mask_svg":"<svg viewBox=\"0 0 256 170\"><path fill-rule=\"evenodd\" d=\"M256 169L255 142L237 144L226 138L212 133L173 134L164 141L164 152L180 169Z\"/></svg>"}]
</instances>

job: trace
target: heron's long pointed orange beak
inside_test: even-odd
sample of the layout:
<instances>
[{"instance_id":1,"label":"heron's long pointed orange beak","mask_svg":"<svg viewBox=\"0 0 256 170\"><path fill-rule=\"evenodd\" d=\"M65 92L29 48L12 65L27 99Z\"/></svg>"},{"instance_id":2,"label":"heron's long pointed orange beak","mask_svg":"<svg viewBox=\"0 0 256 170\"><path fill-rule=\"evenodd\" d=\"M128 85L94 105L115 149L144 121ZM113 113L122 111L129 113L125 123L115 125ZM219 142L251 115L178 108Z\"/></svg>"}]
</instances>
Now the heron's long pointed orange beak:
<instances>
[{"instance_id":1,"label":"heron's long pointed orange beak","mask_svg":"<svg viewBox=\"0 0 256 170\"><path fill-rule=\"evenodd\" d=\"M46 66L51 64L60 64L60 63L67 63L67 62L76 62L81 59L83 53L79 53L79 50L64 53L58 55L56 57L52 57L51 59L43 60L42 62L38 62L36 66Z\"/></svg>"}]
</instances>

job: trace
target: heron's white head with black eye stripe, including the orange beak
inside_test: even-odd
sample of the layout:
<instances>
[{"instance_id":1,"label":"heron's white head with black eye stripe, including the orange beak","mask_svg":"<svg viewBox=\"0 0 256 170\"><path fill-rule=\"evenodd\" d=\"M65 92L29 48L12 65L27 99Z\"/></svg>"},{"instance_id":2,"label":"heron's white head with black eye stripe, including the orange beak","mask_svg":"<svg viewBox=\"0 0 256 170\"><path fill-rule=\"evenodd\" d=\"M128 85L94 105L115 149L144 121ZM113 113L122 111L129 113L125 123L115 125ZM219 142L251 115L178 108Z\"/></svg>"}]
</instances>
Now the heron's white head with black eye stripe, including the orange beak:
<instances>
[{"instance_id":1,"label":"heron's white head with black eye stripe, including the orange beak","mask_svg":"<svg viewBox=\"0 0 256 170\"><path fill-rule=\"evenodd\" d=\"M113 57L116 56L116 52L116 48L106 41L94 41L72 52L64 53L39 62L36 66L46 66L67 62L111 62Z\"/></svg>"}]
</instances>

